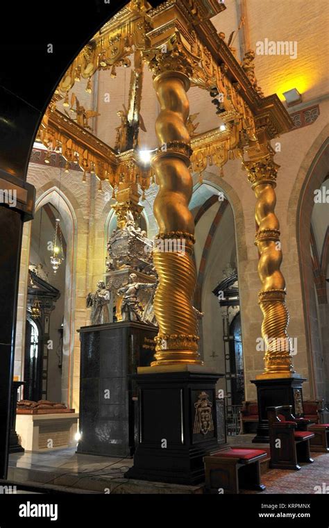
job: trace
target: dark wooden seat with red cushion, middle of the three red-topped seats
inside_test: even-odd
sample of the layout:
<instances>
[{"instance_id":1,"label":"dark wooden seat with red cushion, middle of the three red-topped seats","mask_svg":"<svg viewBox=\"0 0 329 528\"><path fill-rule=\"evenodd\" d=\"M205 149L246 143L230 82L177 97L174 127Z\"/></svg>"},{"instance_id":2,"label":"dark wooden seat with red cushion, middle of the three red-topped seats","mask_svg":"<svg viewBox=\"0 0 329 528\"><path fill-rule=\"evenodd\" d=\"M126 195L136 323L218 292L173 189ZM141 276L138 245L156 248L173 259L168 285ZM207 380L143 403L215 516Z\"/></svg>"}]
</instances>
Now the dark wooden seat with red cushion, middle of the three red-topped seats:
<instances>
[{"instance_id":1,"label":"dark wooden seat with red cushion, middle of the three red-topped seats","mask_svg":"<svg viewBox=\"0 0 329 528\"><path fill-rule=\"evenodd\" d=\"M285 413L285 414L284 414ZM314 462L310 457L310 440L314 434L298 429L298 419L292 415L292 405L267 407L269 418L270 467L275 469L300 470L298 462ZM280 420L289 418L289 420ZM299 421L300 424L303 424Z\"/></svg>"}]
</instances>

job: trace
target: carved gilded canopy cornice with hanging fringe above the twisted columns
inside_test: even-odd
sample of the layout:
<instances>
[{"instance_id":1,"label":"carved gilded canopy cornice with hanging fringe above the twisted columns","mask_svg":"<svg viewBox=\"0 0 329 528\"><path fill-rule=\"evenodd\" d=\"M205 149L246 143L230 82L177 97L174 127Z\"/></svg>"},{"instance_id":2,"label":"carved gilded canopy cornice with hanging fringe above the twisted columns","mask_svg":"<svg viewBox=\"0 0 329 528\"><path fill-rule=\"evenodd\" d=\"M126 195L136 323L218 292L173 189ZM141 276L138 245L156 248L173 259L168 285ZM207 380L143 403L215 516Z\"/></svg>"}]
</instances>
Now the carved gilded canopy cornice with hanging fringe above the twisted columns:
<instances>
[{"instance_id":1,"label":"carved gilded canopy cornice with hanging fringe above the twisted columns","mask_svg":"<svg viewBox=\"0 0 329 528\"><path fill-rule=\"evenodd\" d=\"M217 34L210 18L223 9L224 4L217 0L169 0L155 9L145 0L130 1L74 60L56 97L60 99L60 92L68 92L79 77L90 78L96 69L111 68L115 76L115 67L129 66L130 55L139 50L155 77L163 72L181 72L186 82L189 79L192 85L209 92L216 88L223 96L219 124L224 122L226 131L218 129L194 136L191 157L195 172L202 173L209 163L219 166L223 176L223 165L229 159L243 158L244 147L250 147L251 161L255 145L259 149L259 144L266 145L294 126L276 95L260 97L250 74L251 69L254 71L252 53L240 65ZM75 163L85 172L95 172L111 185L126 178L141 181L143 190L149 187L153 180L151 170L139 166L134 151L117 154L54 108L49 108L40 130L47 147L54 147L56 141L64 143L67 160L76 156ZM178 145L171 147L177 150ZM260 156L258 150L256 156ZM136 167L134 176L130 162ZM253 172L251 169L250 174Z\"/></svg>"}]
</instances>

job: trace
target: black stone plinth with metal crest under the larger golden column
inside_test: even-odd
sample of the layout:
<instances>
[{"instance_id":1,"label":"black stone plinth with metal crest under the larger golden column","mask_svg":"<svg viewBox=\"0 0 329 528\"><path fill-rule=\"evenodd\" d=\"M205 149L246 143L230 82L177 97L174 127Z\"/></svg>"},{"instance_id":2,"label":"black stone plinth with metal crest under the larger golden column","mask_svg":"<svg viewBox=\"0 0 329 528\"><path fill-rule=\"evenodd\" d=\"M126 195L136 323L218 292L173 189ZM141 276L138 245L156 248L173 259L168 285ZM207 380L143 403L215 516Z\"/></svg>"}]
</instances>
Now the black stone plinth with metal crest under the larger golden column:
<instances>
[{"instance_id":1,"label":"black stone plinth with metal crest under the larger golden column","mask_svg":"<svg viewBox=\"0 0 329 528\"><path fill-rule=\"evenodd\" d=\"M221 376L189 367L134 377L139 394L139 443L126 477L188 485L205 479L203 456L220 449L215 385ZM195 422L195 404L203 391L212 406L212 428L205 434L196 432Z\"/></svg>"}]
</instances>

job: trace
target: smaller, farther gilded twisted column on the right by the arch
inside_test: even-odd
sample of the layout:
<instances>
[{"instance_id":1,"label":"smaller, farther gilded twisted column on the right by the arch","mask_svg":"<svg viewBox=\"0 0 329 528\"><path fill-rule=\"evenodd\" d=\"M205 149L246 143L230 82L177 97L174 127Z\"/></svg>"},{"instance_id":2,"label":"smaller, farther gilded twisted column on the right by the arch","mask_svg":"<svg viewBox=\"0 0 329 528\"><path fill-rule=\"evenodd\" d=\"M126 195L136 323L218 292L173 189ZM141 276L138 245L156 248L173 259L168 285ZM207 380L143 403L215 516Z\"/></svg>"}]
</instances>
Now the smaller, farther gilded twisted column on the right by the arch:
<instances>
[{"instance_id":1,"label":"smaller, farther gilded twisted column on the right by the arch","mask_svg":"<svg viewBox=\"0 0 329 528\"><path fill-rule=\"evenodd\" d=\"M256 197L255 220L258 231L255 245L260 254L258 274L262 282L259 303L264 315L262 338L265 345L265 370L258 378L291 377L294 368L287 334L289 313L285 305L285 278L280 272L280 225L275 213L279 166L273 161L271 147L267 147L265 156L245 162L244 167L248 170L248 180Z\"/></svg>"}]
</instances>

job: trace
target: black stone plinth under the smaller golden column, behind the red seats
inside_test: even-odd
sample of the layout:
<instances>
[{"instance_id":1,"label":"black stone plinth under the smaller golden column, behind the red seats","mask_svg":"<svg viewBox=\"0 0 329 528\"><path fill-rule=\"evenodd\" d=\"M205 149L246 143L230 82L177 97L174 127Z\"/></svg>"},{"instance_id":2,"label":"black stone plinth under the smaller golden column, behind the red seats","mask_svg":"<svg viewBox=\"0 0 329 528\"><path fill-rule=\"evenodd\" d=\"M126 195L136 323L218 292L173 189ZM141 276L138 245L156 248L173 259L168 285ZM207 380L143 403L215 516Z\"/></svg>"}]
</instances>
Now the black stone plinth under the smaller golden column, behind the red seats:
<instances>
[{"instance_id":1,"label":"black stone plinth under the smaller golden column, behind the red seats","mask_svg":"<svg viewBox=\"0 0 329 528\"><path fill-rule=\"evenodd\" d=\"M253 438L253 443L269 442L267 407L292 405L292 413L296 418L303 414L303 381L305 378L301 377L254 379L251 381L257 387L259 417L257 434Z\"/></svg>"}]
</instances>

